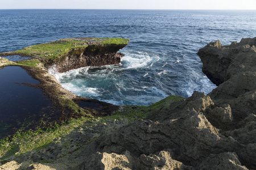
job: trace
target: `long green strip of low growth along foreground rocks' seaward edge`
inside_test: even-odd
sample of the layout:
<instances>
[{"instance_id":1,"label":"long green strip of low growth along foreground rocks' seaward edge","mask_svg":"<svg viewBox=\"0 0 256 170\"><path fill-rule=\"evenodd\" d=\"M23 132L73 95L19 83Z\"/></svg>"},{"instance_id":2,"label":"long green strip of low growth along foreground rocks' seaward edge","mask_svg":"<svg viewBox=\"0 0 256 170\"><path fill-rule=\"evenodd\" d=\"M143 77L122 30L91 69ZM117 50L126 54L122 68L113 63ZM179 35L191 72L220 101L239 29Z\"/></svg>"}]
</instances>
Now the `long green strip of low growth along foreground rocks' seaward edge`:
<instances>
[{"instance_id":1,"label":"long green strip of low growth along foreground rocks' seaward edge","mask_svg":"<svg viewBox=\"0 0 256 170\"><path fill-rule=\"evenodd\" d=\"M36 130L26 132L17 131L12 137L6 137L0 140L0 160L6 163L9 159L19 158L22 154L32 150L40 150L47 147L56 138L64 137L81 126L96 126L102 123L108 123L113 120L127 119L130 122L146 118L148 114L154 113L171 101L183 100L180 96L168 96L166 99L152 104L148 107L138 105L126 105L115 111L112 115L105 117L80 117L72 118L63 124L54 124Z\"/></svg>"}]
</instances>

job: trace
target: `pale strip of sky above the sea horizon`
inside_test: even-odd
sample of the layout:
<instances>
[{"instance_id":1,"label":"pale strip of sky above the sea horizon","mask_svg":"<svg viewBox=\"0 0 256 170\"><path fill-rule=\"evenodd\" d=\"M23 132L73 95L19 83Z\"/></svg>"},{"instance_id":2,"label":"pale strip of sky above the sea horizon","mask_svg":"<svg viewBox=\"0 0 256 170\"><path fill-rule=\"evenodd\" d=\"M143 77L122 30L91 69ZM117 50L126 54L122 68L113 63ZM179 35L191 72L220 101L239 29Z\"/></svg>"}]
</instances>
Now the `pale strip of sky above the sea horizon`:
<instances>
[{"instance_id":1,"label":"pale strip of sky above the sea horizon","mask_svg":"<svg viewBox=\"0 0 256 170\"><path fill-rule=\"evenodd\" d=\"M0 4L1 9L80 8L256 10L256 0L0 0Z\"/></svg>"}]
</instances>

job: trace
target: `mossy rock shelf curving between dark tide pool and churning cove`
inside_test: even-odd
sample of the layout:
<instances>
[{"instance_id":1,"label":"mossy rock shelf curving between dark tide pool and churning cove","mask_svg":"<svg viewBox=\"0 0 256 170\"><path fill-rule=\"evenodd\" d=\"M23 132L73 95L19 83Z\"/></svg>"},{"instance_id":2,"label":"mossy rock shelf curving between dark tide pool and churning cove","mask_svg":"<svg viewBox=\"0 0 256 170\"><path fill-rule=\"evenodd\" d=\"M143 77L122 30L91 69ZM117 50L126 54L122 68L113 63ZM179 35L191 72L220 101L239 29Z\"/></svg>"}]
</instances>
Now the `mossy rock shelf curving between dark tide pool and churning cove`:
<instances>
[{"instance_id":1,"label":"mossy rock shelf curving between dark tide pool and churning cove","mask_svg":"<svg viewBox=\"0 0 256 170\"><path fill-rule=\"evenodd\" d=\"M57 71L63 72L84 66L117 64L120 62L121 57L124 56L117 52L119 49L126 46L128 41L127 39L119 38L71 38L28 46L27 48L16 50L15 52L0 53L0 56L3 56L0 57L0 69L6 66L22 67L32 78L40 82L35 85L23 82L23 86L41 89L54 107L59 109L55 116L49 113L42 113L41 117L37 116L36 119L27 120L27 124L22 125L23 131L27 131L31 128L34 130L42 126L51 128L52 125L56 123L62 124L63 122L71 120L71 118L106 115L118 109L119 107L113 104L86 99L85 97L73 94L63 88L61 84L57 82L55 76L49 74L47 70L52 66L55 66ZM63 48L63 50L61 50L61 48ZM19 58L30 57L30 59L9 61L4 58L6 56L19 56ZM8 98L5 100L8 100ZM27 118L24 117L23 120L19 121L24 122L26 119ZM0 139L19 131L17 128L20 127L15 126L15 124L18 123L15 122L15 120L13 121L14 126L10 126L10 129L14 130L11 130L11 133L5 136L0 135Z\"/></svg>"}]
</instances>

